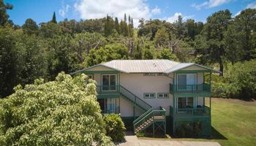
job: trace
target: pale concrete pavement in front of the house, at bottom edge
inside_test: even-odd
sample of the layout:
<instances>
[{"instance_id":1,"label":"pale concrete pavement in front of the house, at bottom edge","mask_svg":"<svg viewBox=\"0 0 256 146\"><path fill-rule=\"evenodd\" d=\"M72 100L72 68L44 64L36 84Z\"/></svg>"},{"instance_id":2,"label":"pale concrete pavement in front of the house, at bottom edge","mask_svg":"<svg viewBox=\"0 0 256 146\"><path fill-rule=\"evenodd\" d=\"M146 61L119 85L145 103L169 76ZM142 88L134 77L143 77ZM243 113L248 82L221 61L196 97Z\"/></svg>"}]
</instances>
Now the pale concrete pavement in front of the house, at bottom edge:
<instances>
[{"instance_id":1,"label":"pale concrete pavement in front of the house, at bottom edge","mask_svg":"<svg viewBox=\"0 0 256 146\"><path fill-rule=\"evenodd\" d=\"M117 144L120 146L220 146L218 142L190 142L190 141L175 141L175 140L151 140L138 139L134 135L125 136L126 142Z\"/></svg>"}]
</instances>

